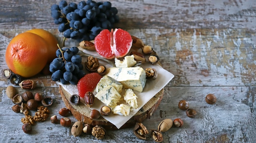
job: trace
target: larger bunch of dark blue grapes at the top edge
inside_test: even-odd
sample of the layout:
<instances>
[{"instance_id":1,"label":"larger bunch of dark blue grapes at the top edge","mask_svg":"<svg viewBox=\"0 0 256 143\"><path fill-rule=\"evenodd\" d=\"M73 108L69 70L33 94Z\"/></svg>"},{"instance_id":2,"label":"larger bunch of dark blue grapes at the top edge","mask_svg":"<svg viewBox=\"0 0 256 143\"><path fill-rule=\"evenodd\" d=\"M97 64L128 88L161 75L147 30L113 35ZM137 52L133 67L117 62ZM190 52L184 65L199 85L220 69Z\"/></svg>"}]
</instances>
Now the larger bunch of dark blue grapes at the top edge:
<instances>
[{"instance_id":1,"label":"larger bunch of dark blue grapes at the top edge","mask_svg":"<svg viewBox=\"0 0 256 143\"><path fill-rule=\"evenodd\" d=\"M52 5L51 11L54 23L59 24L59 32L78 41L93 40L101 30L111 29L119 21L117 8L108 1L88 0L67 4L61 0L59 4Z\"/></svg>"}]
</instances>

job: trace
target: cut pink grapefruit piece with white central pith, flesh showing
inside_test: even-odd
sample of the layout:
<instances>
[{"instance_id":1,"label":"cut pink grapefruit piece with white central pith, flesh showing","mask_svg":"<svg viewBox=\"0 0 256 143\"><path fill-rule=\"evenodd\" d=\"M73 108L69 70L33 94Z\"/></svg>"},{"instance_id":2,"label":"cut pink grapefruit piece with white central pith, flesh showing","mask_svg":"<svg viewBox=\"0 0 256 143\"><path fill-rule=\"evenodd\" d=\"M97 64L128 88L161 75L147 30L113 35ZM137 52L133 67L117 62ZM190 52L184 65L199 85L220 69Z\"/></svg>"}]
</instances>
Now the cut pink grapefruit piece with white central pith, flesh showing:
<instances>
[{"instance_id":1,"label":"cut pink grapefruit piece with white central pith, flesh showing","mask_svg":"<svg viewBox=\"0 0 256 143\"><path fill-rule=\"evenodd\" d=\"M121 58L125 56L132 47L131 35L120 28L115 31L111 29L102 30L94 39L95 50L104 58Z\"/></svg>"}]
</instances>

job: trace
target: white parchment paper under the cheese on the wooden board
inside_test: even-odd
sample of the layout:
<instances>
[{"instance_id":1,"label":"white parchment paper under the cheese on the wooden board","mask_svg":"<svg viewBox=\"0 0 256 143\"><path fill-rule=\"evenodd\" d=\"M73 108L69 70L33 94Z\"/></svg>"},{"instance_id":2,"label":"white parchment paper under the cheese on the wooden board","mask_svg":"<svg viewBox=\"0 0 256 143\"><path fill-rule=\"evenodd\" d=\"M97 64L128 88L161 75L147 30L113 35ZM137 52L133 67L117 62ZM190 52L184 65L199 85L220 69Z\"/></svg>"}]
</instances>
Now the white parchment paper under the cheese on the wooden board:
<instances>
[{"instance_id":1,"label":"white parchment paper under the cheese on the wooden board","mask_svg":"<svg viewBox=\"0 0 256 143\"><path fill-rule=\"evenodd\" d=\"M97 52L91 52L84 50L83 52L92 54L94 56L99 56ZM108 65L107 63L104 63L106 67L111 67L111 65ZM134 93L137 95L137 102L138 102L138 108L133 109L130 111L130 114L128 116L121 116L121 115L114 115L111 114L109 116L103 116L106 120L114 124L118 129L121 128L133 115L135 115L141 107L143 107L155 94L157 94L161 89L163 89L168 82L170 82L174 75L171 74L170 72L166 71L163 69L160 65L158 64L150 64L150 63L145 63L141 65L142 68L146 69L148 67L155 68L157 71L157 78L156 80L147 80L146 85L144 87L143 92L137 92L134 91ZM73 94L78 94L77 86L76 85L63 85L61 82L57 82L59 85L61 85L67 92L69 92L71 95ZM96 94L96 93L95 93ZM123 96L123 95L122 95ZM97 103L97 104L95 104ZM91 109L97 109L100 111L101 106L103 104L100 100L95 98L94 104L91 107Z\"/></svg>"}]
</instances>

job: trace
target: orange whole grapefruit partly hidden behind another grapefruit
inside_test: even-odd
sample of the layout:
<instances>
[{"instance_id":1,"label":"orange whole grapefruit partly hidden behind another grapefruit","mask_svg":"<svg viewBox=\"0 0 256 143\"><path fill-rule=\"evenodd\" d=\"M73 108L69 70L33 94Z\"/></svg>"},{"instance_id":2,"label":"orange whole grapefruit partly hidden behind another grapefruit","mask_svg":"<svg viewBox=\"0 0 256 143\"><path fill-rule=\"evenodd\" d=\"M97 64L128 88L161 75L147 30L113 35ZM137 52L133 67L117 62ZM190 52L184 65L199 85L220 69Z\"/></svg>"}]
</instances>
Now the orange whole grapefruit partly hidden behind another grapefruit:
<instances>
[{"instance_id":1,"label":"orange whole grapefruit partly hidden behind another grapefruit","mask_svg":"<svg viewBox=\"0 0 256 143\"><path fill-rule=\"evenodd\" d=\"M44 30L44 29L31 29L26 32L31 32L36 35L39 35L46 41L46 43L48 45L48 60L47 60L47 62L51 63L52 60L54 58L56 58L56 50L58 50L58 46L57 46L58 40L56 39L56 37L54 37L54 35L52 35L52 33L50 33L49 31Z\"/></svg>"}]
</instances>

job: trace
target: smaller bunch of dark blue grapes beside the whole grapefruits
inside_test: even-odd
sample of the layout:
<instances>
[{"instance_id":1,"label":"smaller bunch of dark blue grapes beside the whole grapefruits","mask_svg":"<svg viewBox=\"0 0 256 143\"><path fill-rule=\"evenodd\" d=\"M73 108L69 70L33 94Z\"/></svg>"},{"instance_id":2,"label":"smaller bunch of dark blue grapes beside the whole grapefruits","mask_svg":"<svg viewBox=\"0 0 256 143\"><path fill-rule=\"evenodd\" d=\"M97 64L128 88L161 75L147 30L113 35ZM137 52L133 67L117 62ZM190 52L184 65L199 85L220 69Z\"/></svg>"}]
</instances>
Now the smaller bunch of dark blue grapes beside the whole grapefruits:
<instances>
[{"instance_id":1,"label":"smaller bunch of dark blue grapes beside the whole grapefruits","mask_svg":"<svg viewBox=\"0 0 256 143\"><path fill-rule=\"evenodd\" d=\"M76 85L77 82L85 75L83 71L82 58L77 53L77 47L59 48L56 56L50 63L50 72L52 72L53 81L61 81L66 85L70 83Z\"/></svg>"}]
</instances>

